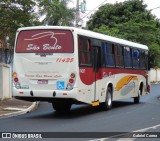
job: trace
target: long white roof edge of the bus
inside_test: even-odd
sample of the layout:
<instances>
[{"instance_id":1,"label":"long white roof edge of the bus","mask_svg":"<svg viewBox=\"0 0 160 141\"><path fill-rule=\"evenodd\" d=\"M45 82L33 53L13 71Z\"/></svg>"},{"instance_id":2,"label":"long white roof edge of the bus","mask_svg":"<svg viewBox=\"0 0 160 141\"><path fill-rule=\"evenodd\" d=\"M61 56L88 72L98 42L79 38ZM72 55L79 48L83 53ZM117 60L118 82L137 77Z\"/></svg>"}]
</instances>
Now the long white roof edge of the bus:
<instances>
[{"instance_id":1,"label":"long white roof edge of the bus","mask_svg":"<svg viewBox=\"0 0 160 141\"><path fill-rule=\"evenodd\" d=\"M21 30L33 30L33 29L65 29L65 30L69 29L69 30L74 30L78 35L84 35L84 36L88 36L88 37L95 38L95 39L101 39L101 40L104 40L104 41L121 44L121 45L124 45L124 46L130 46L130 47L135 47L135 48L141 48L141 49L144 49L144 50L148 50L148 47L146 45L143 45L143 44L139 44L139 43L127 41L127 40L124 40L124 39L116 38L116 37L113 37L113 36L108 36L108 35L104 35L104 34L101 34L101 33L96 33L96 32L93 32L93 31L80 29L80 28L75 28L75 27L68 27L68 26L32 26L32 27L19 28L18 30L21 31Z\"/></svg>"}]
</instances>

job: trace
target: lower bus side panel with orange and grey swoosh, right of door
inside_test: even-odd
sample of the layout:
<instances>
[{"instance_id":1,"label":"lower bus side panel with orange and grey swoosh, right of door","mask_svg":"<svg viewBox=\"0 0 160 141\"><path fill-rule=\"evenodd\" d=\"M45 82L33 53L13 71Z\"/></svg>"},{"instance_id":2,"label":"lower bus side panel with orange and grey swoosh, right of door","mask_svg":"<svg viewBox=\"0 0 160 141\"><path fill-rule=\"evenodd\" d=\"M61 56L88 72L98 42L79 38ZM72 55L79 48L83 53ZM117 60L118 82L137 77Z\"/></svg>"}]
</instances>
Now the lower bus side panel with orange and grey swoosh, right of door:
<instances>
[{"instance_id":1,"label":"lower bus side panel with orange and grey swoosh, right of door","mask_svg":"<svg viewBox=\"0 0 160 141\"><path fill-rule=\"evenodd\" d=\"M130 70L129 70L130 71ZM113 100L125 99L138 96L140 84L143 84L142 95L146 94L146 78L144 70L130 73L118 72L115 69L102 69L101 90L99 91L99 101L104 102L106 90L109 84L113 85ZM139 73L139 74L138 74Z\"/></svg>"}]
</instances>

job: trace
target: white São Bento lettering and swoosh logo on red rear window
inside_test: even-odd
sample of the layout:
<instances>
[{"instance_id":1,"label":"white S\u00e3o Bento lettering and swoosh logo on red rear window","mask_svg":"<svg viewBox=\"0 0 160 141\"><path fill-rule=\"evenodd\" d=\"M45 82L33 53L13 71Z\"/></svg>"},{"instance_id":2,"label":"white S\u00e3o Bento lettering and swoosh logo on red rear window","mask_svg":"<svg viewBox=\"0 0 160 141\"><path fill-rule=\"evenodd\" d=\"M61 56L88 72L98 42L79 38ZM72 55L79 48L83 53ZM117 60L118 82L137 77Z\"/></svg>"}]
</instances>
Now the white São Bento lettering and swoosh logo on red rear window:
<instances>
[{"instance_id":1,"label":"white S\u00e3o Bento lettering and swoosh logo on red rear window","mask_svg":"<svg viewBox=\"0 0 160 141\"><path fill-rule=\"evenodd\" d=\"M34 34L30 39L24 39L28 43L26 50L61 50L62 46L58 45L58 39L55 37L56 34L65 35L66 33L48 31Z\"/></svg>"}]
</instances>

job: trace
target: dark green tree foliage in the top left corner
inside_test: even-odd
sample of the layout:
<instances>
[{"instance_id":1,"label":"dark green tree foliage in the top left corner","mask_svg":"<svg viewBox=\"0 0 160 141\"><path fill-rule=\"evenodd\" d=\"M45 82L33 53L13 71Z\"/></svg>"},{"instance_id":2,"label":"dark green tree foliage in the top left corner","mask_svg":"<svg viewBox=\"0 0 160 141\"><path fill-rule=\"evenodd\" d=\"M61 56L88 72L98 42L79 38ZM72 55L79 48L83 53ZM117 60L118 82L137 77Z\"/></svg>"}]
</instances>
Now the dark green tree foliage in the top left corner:
<instances>
[{"instance_id":1,"label":"dark green tree foliage in the top left corner","mask_svg":"<svg viewBox=\"0 0 160 141\"><path fill-rule=\"evenodd\" d=\"M38 17L34 13L33 0L4 0L0 3L0 38L6 35L13 44L17 28L37 25Z\"/></svg>"}]
</instances>

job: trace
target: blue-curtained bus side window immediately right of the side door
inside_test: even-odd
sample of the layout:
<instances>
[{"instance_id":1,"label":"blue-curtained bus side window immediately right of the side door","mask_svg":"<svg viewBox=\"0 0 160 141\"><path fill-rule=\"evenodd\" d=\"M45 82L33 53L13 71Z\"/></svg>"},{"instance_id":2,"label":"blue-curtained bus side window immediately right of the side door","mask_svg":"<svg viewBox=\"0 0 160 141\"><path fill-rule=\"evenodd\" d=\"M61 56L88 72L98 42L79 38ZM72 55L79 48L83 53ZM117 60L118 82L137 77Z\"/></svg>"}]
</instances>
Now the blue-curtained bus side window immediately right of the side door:
<instances>
[{"instance_id":1,"label":"blue-curtained bus side window immediately right of the side door","mask_svg":"<svg viewBox=\"0 0 160 141\"><path fill-rule=\"evenodd\" d=\"M104 51L104 59L106 67L114 67L115 66L114 45L111 43L104 42L103 51Z\"/></svg>"}]
</instances>

